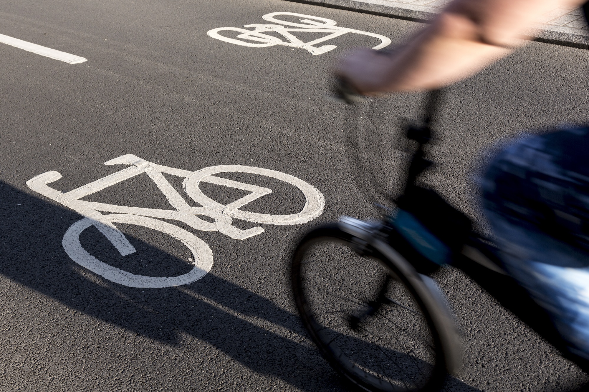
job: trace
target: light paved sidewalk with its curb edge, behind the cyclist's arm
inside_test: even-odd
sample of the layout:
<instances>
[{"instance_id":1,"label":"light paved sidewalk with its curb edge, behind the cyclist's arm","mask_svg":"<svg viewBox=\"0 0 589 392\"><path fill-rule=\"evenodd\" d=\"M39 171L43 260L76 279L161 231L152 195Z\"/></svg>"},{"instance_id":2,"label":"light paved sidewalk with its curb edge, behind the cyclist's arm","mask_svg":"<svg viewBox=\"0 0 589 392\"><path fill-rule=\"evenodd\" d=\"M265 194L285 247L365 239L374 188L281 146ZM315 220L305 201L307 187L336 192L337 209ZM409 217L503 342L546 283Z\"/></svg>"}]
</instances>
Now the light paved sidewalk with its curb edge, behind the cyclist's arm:
<instances>
[{"instance_id":1,"label":"light paved sidewalk with its curb edge, behind the cyclist's arm","mask_svg":"<svg viewBox=\"0 0 589 392\"><path fill-rule=\"evenodd\" d=\"M451 0L288 0L332 8L350 9L370 14L393 16L413 21L428 21ZM542 15L532 34L550 44L589 49L589 27L583 11L560 7Z\"/></svg>"}]
</instances>

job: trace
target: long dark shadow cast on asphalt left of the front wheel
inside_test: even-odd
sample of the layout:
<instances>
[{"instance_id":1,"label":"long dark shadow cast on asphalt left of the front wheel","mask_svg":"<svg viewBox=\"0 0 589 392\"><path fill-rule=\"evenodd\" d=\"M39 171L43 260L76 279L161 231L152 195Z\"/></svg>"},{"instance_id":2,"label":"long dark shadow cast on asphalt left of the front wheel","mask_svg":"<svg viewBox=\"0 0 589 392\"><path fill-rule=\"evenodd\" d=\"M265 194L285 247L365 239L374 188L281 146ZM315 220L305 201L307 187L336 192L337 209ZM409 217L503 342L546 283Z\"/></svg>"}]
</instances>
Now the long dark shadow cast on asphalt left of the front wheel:
<instances>
[{"instance_id":1,"label":"long dark shadow cast on asphalt left of the front wheel","mask_svg":"<svg viewBox=\"0 0 589 392\"><path fill-rule=\"evenodd\" d=\"M1 182L0 195L0 274L5 277L54 298L67 308L164 344L186 344L187 336L206 342L244 367L280 378L300 390L345 387L307 340L290 304L284 238L254 241L247 245L254 250L247 256L243 250L231 253L230 247L218 246L213 249L216 264L211 272L190 285L159 289L125 287L85 270L65 254L62 237L80 219L77 213ZM126 234L129 237L129 232ZM81 243L102 261L121 269L135 268L135 273L165 276L180 274L183 268L190 267L186 254L170 251L178 241L154 237L153 233L136 234L129 240L137 254L127 258L117 255L104 236L92 232L92 228L81 235ZM149 242L143 239L144 235ZM215 235L209 234L209 244L218 243L214 241L221 237ZM154 241L157 246L152 245ZM264 241L270 242L269 247L256 252ZM246 246L245 242L238 243L237 248ZM236 260L240 257L243 268L234 275L227 273L231 270L227 264L237 268ZM263 274L252 270L265 265L256 263L265 258L283 260L274 267L279 270L275 275L277 281L264 281ZM4 295L9 296L9 288L5 289ZM39 330L51 335L51 328L60 328L58 321ZM210 353L190 351L193 358L184 360L197 364L203 360L198 357ZM477 391L453 377L446 388Z\"/></svg>"}]
</instances>

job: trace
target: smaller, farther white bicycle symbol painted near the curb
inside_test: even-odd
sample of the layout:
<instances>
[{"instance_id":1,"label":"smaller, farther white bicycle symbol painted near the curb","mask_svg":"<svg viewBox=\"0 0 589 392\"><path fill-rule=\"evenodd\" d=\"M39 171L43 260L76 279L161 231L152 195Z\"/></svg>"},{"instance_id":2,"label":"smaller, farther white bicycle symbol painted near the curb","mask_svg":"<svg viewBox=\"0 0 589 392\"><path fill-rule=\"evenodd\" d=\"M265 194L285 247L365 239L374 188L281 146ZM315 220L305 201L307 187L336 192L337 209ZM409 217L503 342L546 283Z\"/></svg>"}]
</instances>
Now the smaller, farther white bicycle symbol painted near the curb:
<instances>
[{"instance_id":1,"label":"smaller, farther white bicycle symbol painted near the curb","mask_svg":"<svg viewBox=\"0 0 589 392\"><path fill-rule=\"evenodd\" d=\"M281 21L280 19L274 18L274 16L278 15L297 16L302 19L300 19L300 23ZM391 39L387 38L384 35L374 34L368 31L350 29L347 27L336 26L336 21L332 21L332 19L327 18L320 18L319 16L295 14L294 12L271 12L270 14L263 15L262 19L277 24L264 25L254 23L251 25L244 25L244 27L248 28L253 27L253 30L242 29L239 27L219 27L207 31L207 35L216 39L220 39L221 41L230 42L231 44L250 46L252 48L263 48L265 46L274 45L292 46L293 48L306 49L313 55L323 54L325 52L329 52L330 50L337 48L336 45L323 45L318 47L313 45L319 44L320 42L328 41L329 39L333 39L337 36L348 33L369 35L380 39L380 44L373 46L372 49L382 49L385 46L391 44ZM296 28L286 28L285 26L294 26ZM227 36L219 34L221 31L237 31L241 34L237 35L236 37L239 39L229 38ZM291 34L292 32L302 31L331 34L323 36L321 38L317 38L310 42L303 42L295 35ZM282 39L270 34L264 34L267 32L276 32L282 35L286 39L286 41L283 41Z\"/></svg>"}]
</instances>

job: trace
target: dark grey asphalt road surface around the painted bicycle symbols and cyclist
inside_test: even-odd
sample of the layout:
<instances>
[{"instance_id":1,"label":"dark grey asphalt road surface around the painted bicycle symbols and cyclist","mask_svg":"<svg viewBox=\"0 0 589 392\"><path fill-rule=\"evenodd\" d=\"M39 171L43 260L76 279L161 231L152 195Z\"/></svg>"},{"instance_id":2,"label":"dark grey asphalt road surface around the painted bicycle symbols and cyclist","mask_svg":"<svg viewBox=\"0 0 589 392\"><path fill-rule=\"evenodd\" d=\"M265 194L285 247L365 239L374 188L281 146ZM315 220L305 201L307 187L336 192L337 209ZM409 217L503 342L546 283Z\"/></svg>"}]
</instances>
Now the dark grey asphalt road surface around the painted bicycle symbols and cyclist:
<instances>
[{"instance_id":1,"label":"dark grey asphalt road surface around the painted bicycle symbols and cyclist","mask_svg":"<svg viewBox=\"0 0 589 392\"><path fill-rule=\"evenodd\" d=\"M325 95L337 56L380 41L348 33L316 45L337 48L313 55L207 35L214 28L271 24L262 19L270 12L333 19L393 44L422 26L280 0L2 1L0 34L87 59L68 64L0 44L2 390L345 388L299 323L288 259L309 228L343 214L375 213L346 158L344 107ZM290 17L281 16L297 20ZM323 33L293 34L309 41ZM450 89L429 149L437 165L426 181L479 221L471 181L479 151L525 129L587 121L588 62L589 51L532 43ZM367 150L384 162L392 189L406 157L398 145L399 119L418 118L421 99L372 102L363 116ZM143 161L127 157L104 165L125 154ZM216 165L278 173L201 172L237 186L191 177L193 192L200 189L201 200L212 203L192 224L178 215L150 215L140 224L129 218L127 212L138 211L130 207L170 214L183 202L200 207L182 186L186 173ZM94 182L121 170L137 175ZM47 187L68 192L94 182L78 192L81 201L123 206L101 213L127 214L112 221L130 241L118 246L135 252L122 256L95 226L82 230L88 221L79 211L89 203L42 194L48 188L40 180L37 190L25 184L50 171L62 177L54 175ZM264 188L273 192L243 202L239 211L266 215L242 214L249 220L215 226L214 201L243 201ZM312 211L296 215L306 202ZM188 236L184 242L192 241L194 253L174 230ZM184 280L169 279L178 276ZM464 366L448 378L447 391L564 391L587 381L464 275L448 268L438 278L465 345ZM179 285L154 288L158 284Z\"/></svg>"}]
</instances>

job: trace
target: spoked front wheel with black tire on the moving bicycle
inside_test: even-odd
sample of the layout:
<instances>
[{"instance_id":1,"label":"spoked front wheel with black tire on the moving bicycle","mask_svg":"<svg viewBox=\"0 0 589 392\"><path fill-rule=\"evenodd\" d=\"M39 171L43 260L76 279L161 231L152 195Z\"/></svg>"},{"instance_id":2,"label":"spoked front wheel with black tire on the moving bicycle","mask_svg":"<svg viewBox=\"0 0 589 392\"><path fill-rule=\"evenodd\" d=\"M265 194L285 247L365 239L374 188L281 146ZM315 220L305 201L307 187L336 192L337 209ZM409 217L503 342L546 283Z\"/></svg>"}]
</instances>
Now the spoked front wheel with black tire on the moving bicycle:
<instances>
[{"instance_id":1,"label":"spoked front wheel with black tire on the moving bicycle","mask_svg":"<svg viewBox=\"0 0 589 392\"><path fill-rule=\"evenodd\" d=\"M363 257L361 242L333 225L297 246L292 289L303 324L329 364L363 390L437 390L446 367L427 291L405 273L411 265L398 268L374 248Z\"/></svg>"}]
</instances>

